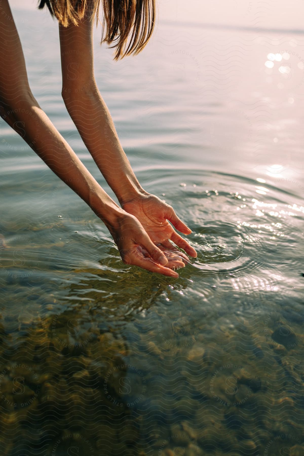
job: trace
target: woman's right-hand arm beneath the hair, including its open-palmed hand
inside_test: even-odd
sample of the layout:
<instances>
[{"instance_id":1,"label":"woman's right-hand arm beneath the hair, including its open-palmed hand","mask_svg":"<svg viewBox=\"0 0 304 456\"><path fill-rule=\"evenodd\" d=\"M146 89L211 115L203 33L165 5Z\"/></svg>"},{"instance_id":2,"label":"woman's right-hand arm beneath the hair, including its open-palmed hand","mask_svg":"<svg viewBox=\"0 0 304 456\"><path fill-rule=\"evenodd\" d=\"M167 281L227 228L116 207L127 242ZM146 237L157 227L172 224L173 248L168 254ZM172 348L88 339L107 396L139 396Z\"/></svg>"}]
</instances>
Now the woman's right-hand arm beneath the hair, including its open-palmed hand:
<instances>
[{"instance_id":1,"label":"woman's right-hand arm beneath the hair, including its open-palmed hand","mask_svg":"<svg viewBox=\"0 0 304 456\"><path fill-rule=\"evenodd\" d=\"M170 239L187 254L196 256L195 249L175 233L168 220L184 234L191 233L191 229L177 217L171 206L144 191L120 144L94 77L92 10L86 11L78 26L59 26L59 37L62 98L84 144L120 204L138 218L153 242L170 249Z\"/></svg>"}]
</instances>

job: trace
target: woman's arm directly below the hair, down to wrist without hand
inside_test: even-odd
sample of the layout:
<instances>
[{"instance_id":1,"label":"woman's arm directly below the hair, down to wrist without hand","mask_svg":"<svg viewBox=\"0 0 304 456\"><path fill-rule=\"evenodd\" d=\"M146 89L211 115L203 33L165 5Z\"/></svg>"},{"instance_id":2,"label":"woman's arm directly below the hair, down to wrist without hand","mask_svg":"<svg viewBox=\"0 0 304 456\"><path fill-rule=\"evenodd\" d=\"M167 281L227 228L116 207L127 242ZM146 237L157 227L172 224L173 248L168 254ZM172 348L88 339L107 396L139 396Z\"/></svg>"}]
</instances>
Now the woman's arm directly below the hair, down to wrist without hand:
<instances>
[{"instance_id":1,"label":"woman's arm directly below the hair, down to wrist without hand","mask_svg":"<svg viewBox=\"0 0 304 456\"><path fill-rule=\"evenodd\" d=\"M84 144L123 204L138 193L147 192L134 175L95 81L91 13L88 7L78 26L59 26L62 98Z\"/></svg>"}]
</instances>

